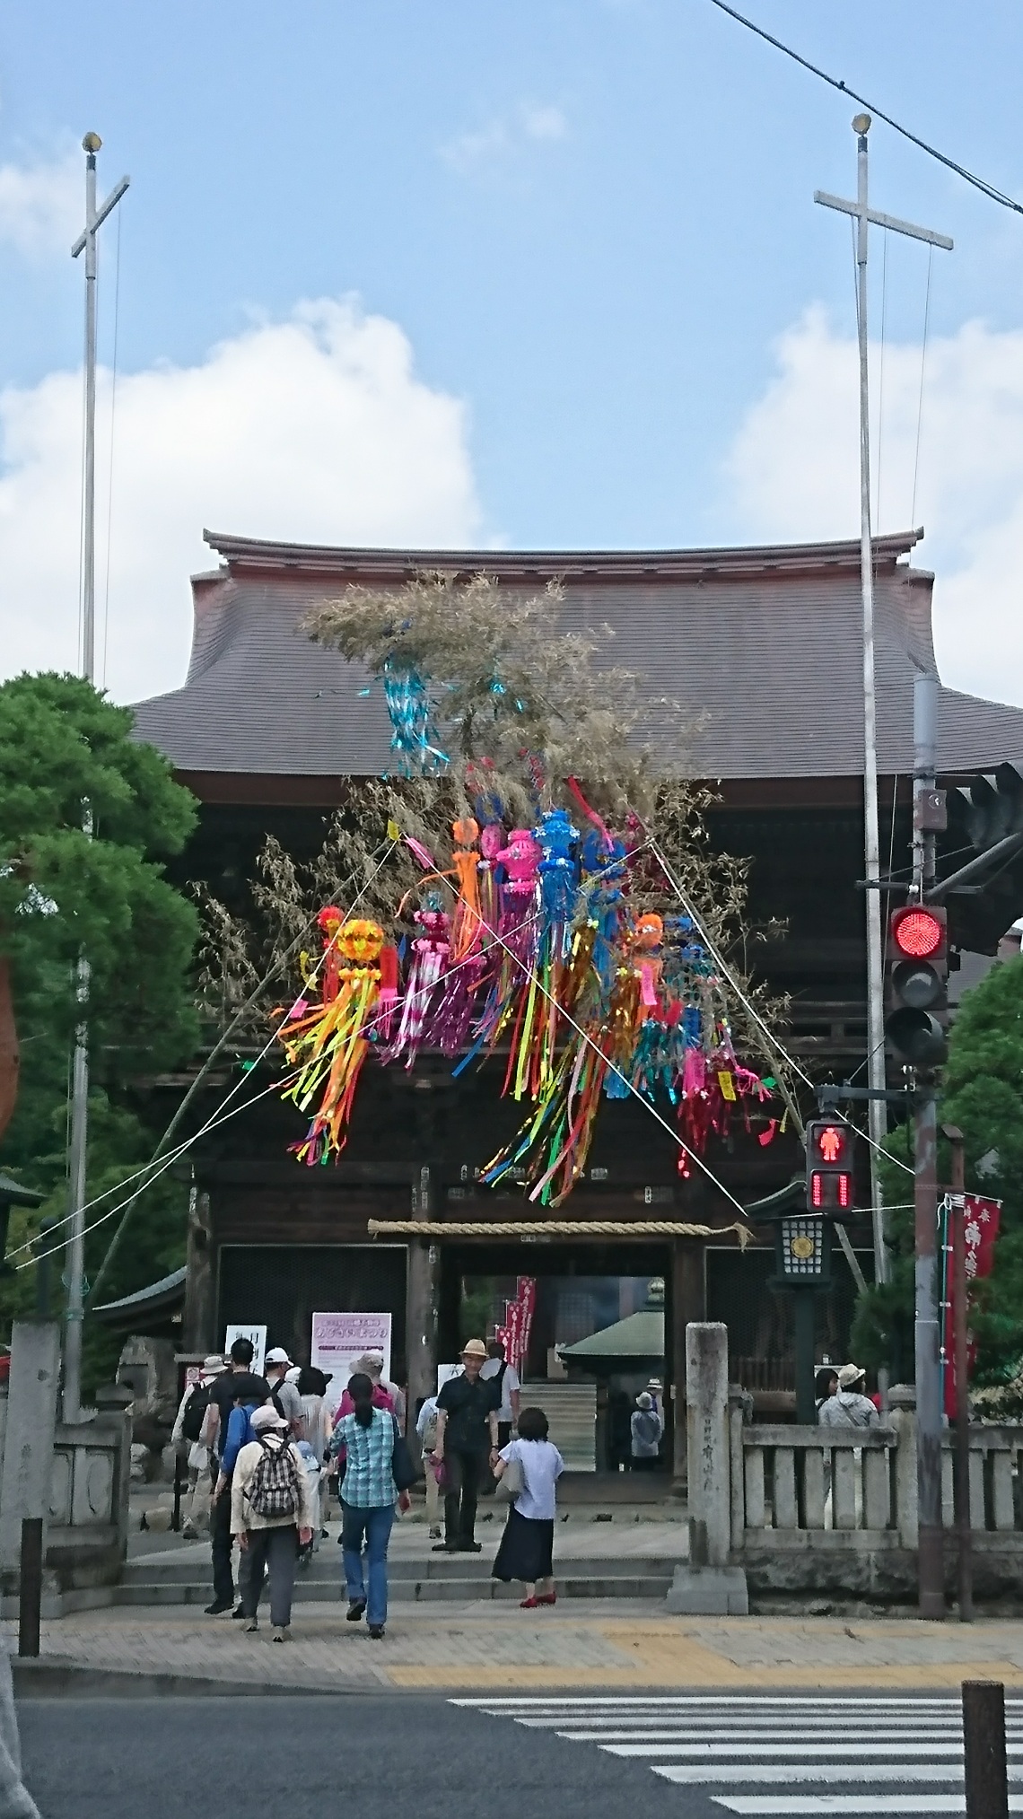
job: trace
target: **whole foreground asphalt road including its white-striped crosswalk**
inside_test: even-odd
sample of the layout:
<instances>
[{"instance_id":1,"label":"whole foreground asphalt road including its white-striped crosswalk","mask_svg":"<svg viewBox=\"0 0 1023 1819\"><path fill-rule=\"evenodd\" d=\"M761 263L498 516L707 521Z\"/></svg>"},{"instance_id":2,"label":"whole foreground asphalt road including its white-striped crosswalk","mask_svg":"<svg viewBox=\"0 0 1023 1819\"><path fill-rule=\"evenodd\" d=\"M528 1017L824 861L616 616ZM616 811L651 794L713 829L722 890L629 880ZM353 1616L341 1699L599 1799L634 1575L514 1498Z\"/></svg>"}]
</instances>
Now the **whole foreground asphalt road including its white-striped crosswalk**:
<instances>
[{"instance_id":1,"label":"whole foreground asphalt road including its white-striped crosswalk","mask_svg":"<svg viewBox=\"0 0 1023 1819\"><path fill-rule=\"evenodd\" d=\"M282 1661L286 1672L286 1661ZM954 1695L359 1693L20 1704L42 1819L963 1812ZM1007 1701L1023 1810L1023 1701Z\"/></svg>"}]
</instances>

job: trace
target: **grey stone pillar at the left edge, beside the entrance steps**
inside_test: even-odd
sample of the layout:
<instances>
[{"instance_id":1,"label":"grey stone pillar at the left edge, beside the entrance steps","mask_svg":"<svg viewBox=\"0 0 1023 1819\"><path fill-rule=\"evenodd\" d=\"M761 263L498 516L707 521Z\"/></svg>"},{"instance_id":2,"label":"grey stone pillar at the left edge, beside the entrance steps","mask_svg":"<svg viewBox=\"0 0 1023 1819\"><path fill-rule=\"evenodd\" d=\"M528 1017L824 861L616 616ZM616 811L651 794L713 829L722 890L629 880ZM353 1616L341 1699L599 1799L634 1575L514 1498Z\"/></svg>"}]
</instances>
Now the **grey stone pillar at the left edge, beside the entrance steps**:
<instances>
[{"instance_id":1,"label":"grey stone pillar at the left edge, beside the entrance steps","mask_svg":"<svg viewBox=\"0 0 1023 1819\"><path fill-rule=\"evenodd\" d=\"M18 1577L25 1517L42 1517L46 1557L58 1379L58 1322L15 1321L0 1475L0 1573L5 1584Z\"/></svg>"}]
</instances>

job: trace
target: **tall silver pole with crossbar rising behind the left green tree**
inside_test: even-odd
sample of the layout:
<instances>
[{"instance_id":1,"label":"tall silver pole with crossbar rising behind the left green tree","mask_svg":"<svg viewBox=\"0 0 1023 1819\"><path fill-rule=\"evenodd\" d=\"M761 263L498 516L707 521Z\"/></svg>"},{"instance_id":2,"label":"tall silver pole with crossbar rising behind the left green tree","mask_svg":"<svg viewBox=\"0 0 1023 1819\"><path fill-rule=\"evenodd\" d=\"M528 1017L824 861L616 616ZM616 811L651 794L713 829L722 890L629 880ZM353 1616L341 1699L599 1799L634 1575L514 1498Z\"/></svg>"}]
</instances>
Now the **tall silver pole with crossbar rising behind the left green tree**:
<instances>
[{"instance_id":1,"label":"tall silver pole with crossbar rising behind the left green tree","mask_svg":"<svg viewBox=\"0 0 1023 1819\"><path fill-rule=\"evenodd\" d=\"M82 477L82 675L95 680L96 669L96 231L127 189L127 176L115 184L96 207L98 133L86 133L86 227L71 247L71 258L86 255L86 449ZM93 811L82 804L82 828L93 833ZM86 1162L89 1137L89 959L78 955L78 1028L75 1030L75 1066L71 1075L71 1230L67 1235L67 1328L64 1337L64 1419L82 1417L82 1313L86 1299Z\"/></svg>"}]
</instances>

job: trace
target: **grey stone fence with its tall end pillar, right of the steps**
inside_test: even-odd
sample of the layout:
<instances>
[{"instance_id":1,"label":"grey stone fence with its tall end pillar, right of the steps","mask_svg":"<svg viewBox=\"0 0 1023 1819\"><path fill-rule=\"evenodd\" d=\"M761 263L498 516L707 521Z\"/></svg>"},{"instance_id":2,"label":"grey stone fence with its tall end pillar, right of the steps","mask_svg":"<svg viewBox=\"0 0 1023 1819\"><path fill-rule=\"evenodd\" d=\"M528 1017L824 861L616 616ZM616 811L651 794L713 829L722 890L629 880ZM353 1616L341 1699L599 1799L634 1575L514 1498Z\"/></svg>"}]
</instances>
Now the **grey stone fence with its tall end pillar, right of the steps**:
<instances>
[{"instance_id":1,"label":"grey stone fence with its tall end pillar, right of the steps","mask_svg":"<svg viewBox=\"0 0 1023 1819\"><path fill-rule=\"evenodd\" d=\"M741 1608L748 1593L825 1593L901 1603L917 1586L914 1393L892 1392L883 1428L750 1424L728 1386L726 1330L686 1332L690 1557L674 1608ZM947 1581L956 1584L954 1435L943 1439ZM695 1452L694 1452L695 1448ZM1023 1593L1023 1426L970 1426L970 1519L979 1599ZM724 1541L726 1535L726 1541ZM723 1590L701 1568L732 1575ZM737 1577L735 1577L737 1575ZM686 1603L692 1581L695 1606ZM679 1590L681 1586L681 1590ZM717 1604L706 1599L717 1597Z\"/></svg>"}]
</instances>

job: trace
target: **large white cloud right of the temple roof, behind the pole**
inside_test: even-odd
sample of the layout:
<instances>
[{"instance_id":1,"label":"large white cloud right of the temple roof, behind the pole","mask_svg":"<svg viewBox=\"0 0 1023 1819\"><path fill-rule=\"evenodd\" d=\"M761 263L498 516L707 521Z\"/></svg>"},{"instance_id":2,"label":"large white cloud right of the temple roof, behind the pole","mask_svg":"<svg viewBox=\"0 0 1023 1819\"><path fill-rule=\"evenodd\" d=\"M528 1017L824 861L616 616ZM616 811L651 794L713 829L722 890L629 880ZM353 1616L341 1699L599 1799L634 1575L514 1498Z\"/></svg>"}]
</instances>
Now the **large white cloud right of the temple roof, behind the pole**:
<instances>
[{"instance_id":1,"label":"large white cloud right of the temple roof, behind the pole","mask_svg":"<svg viewBox=\"0 0 1023 1819\"><path fill-rule=\"evenodd\" d=\"M777 375L748 409L726 460L735 535L859 535L856 342L810 309L777 342ZM870 347L876 529L910 528L919 346ZM877 429L881 435L877 437ZM876 486L872 487L877 498ZM945 682L1023 706L1023 331L967 322L927 349L916 560L936 571L934 631Z\"/></svg>"}]
</instances>

